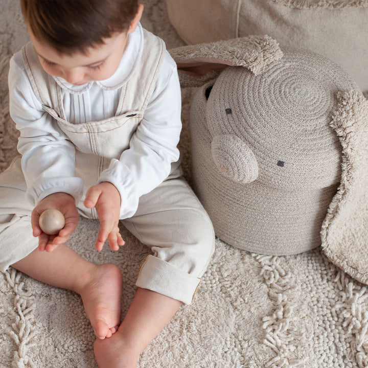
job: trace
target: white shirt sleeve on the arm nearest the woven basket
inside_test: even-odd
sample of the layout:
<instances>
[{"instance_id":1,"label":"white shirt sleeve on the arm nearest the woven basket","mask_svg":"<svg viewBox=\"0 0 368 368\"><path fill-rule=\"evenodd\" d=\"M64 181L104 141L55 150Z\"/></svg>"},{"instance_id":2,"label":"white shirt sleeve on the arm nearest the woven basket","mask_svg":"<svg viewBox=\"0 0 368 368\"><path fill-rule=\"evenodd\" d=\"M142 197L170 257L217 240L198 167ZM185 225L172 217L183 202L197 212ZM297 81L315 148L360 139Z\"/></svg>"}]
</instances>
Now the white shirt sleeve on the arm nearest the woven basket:
<instances>
[{"instance_id":1,"label":"white shirt sleeve on the arm nearest the woven basket","mask_svg":"<svg viewBox=\"0 0 368 368\"><path fill-rule=\"evenodd\" d=\"M137 210L140 196L149 193L170 174L179 159L181 92L176 64L169 53L163 62L144 117L132 135L129 149L112 159L99 182L109 181L121 196L120 218Z\"/></svg>"}]
</instances>

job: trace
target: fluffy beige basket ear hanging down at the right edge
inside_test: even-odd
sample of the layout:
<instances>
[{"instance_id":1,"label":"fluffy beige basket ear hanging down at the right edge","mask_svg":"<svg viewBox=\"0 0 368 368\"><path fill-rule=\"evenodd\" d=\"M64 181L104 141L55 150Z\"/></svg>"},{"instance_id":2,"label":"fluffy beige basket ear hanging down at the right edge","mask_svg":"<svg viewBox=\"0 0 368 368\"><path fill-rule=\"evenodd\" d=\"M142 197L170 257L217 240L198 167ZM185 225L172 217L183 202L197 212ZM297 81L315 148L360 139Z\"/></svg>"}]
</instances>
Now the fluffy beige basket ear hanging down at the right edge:
<instances>
[{"instance_id":1,"label":"fluffy beige basket ear hanging down at the right edge","mask_svg":"<svg viewBox=\"0 0 368 368\"><path fill-rule=\"evenodd\" d=\"M327 257L368 284L368 101L360 91L339 93L331 127L342 146L341 181L321 228Z\"/></svg>"}]
</instances>

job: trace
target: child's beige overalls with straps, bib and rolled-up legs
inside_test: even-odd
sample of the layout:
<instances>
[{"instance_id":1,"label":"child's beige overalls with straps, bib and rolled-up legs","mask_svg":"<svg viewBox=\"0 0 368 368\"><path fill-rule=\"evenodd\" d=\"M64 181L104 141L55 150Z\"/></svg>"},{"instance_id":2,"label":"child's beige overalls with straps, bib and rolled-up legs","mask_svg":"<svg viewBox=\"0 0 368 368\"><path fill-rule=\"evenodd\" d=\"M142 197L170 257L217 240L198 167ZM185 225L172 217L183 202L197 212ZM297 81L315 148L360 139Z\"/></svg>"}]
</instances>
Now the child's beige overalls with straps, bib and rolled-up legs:
<instances>
[{"instance_id":1,"label":"child's beige overalls with straps, bib and rolled-up legs","mask_svg":"<svg viewBox=\"0 0 368 368\"><path fill-rule=\"evenodd\" d=\"M95 209L83 205L86 190L97 183L111 159L119 159L143 118L166 52L162 40L144 31L143 55L128 82L121 87L115 116L83 124L66 120L65 92L42 68L30 43L22 50L27 74L43 109L56 120L76 148L75 175L83 179L80 215L97 219ZM62 173L61 173L62 174ZM25 199L26 181L20 157L0 174L0 270L26 257L38 244L32 236L33 206ZM140 268L138 287L190 304L213 252L212 223L180 173L172 164L169 177L139 199L135 214L121 220L152 249ZM93 246L95 239L91 239Z\"/></svg>"}]
</instances>

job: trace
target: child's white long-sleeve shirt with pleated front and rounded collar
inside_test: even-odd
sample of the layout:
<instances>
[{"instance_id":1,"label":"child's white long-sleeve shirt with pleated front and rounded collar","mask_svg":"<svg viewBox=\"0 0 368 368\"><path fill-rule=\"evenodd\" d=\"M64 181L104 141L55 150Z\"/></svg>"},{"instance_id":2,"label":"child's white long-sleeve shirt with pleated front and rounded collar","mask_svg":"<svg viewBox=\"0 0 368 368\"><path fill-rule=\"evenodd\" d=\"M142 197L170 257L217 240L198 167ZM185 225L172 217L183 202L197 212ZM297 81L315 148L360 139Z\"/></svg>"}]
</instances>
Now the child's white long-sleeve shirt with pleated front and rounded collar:
<instances>
[{"instance_id":1,"label":"child's white long-sleeve shirt with pleated front and rounded collar","mask_svg":"<svg viewBox=\"0 0 368 368\"><path fill-rule=\"evenodd\" d=\"M129 35L116 73L103 81L78 86L54 77L64 89L66 119L73 124L114 116L121 87L129 79L143 45L142 27ZM74 174L74 146L60 134L57 124L42 109L22 61L16 53L9 71L10 114L20 132L18 151L28 186L28 198L37 204L56 192L82 196L81 179ZM122 198L121 218L130 217L137 199L148 193L169 174L179 158L177 144L181 130L181 98L176 64L166 52L155 88L136 132L119 160L113 159L98 182L110 181ZM60 175L62 173L62 175Z\"/></svg>"}]
</instances>

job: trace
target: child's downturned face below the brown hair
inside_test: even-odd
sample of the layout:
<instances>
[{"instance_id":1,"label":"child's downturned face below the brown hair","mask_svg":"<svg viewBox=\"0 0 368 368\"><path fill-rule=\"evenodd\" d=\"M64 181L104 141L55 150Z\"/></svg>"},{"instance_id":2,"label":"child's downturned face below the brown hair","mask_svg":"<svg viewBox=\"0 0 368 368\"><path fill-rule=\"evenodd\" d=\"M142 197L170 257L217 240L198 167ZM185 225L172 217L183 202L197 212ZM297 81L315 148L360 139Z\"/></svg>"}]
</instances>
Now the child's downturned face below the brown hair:
<instances>
[{"instance_id":1,"label":"child's downturned face below the brown hair","mask_svg":"<svg viewBox=\"0 0 368 368\"><path fill-rule=\"evenodd\" d=\"M59 54L47 43L29 34L44 71L71 84L81 85L111 77L118 69L130 32L116 34L105 43L88 48L86 54Z\"/></svg>"}]
</instances>

